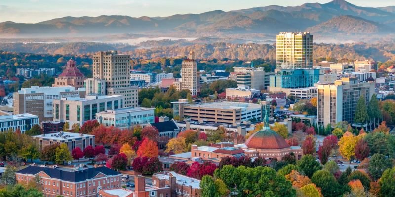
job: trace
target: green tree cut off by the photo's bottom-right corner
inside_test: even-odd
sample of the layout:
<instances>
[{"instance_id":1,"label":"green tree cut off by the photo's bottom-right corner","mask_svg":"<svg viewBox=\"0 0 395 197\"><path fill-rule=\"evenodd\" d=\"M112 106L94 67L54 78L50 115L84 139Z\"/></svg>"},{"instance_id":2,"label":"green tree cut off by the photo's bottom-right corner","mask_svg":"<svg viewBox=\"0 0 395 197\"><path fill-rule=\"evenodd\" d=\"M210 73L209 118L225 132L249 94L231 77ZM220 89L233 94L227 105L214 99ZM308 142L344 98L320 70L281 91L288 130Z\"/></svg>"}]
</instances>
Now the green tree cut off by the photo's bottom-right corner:
<instances>
[{"instance_id":1,"label":"green tree cut off by the photo's bottom-right corner","mask_svg":"<svg viewBox=\"0 0 395 197\"><path fill-rule=\"evenodd\" d=\"M395 197L395 167L386 169L379 180L382 197Z\"/></svg>"}]
</instances>

